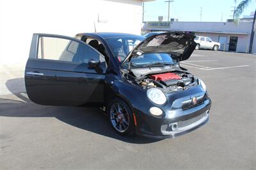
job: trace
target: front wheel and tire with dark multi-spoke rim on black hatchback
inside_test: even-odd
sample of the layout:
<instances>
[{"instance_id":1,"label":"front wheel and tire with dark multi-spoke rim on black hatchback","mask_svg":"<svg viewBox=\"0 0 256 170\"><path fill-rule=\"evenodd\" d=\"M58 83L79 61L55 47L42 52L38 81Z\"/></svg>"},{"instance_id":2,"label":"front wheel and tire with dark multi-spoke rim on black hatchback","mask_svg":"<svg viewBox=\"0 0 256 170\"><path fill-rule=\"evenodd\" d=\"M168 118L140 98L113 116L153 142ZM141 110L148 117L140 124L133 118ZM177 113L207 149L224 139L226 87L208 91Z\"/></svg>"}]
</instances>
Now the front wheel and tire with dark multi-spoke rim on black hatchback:
<instances>
[{"instance_id":1,"label":"front wheel and tire with dark multi-spoke rim on black hatchback","mask_svg":"<svg viewBox=\"0 0 256 170\"><path fill-rule=\"evenodd\" d=\"M109 122L120 135L135 133L134 118L131 107L122 98L114 98L108 104Z\"/></svg>"}]
</instances>

